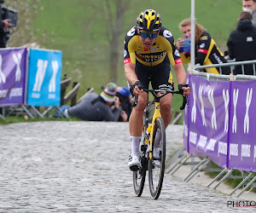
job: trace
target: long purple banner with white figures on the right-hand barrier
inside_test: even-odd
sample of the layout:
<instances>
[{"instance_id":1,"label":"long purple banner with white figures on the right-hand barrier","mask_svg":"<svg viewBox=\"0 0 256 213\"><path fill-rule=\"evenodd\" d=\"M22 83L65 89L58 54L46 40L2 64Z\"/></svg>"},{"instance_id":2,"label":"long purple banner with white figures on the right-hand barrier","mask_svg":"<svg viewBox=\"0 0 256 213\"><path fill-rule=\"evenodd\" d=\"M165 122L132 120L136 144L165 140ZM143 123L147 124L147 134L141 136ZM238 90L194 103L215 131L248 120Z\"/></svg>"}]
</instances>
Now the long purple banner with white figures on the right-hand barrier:
<instances>
[{"instance_id":1,"label":"long purple banner with white figures on the right-hand barrier","mask_svg":"<svg viewBox=\"0 0 256 213\"><path fill-rule=\"evenodd\" d=\"M256 171L256 81L209 82L189 75L189 85L184 112L188 152L229 169Z\"/></svg>"}]
</instances>

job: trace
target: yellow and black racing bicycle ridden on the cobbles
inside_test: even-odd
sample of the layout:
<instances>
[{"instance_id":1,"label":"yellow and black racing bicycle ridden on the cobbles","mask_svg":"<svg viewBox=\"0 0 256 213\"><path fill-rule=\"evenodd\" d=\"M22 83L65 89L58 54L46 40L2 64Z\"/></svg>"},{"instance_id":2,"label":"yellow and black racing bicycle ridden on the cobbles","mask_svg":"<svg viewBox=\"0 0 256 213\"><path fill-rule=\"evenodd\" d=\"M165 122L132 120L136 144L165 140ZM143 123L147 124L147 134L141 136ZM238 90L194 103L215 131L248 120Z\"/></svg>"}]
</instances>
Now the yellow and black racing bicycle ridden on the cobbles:
<instances>
[{"instance_id":1,"label":"yellow and black racing bicycle ridden on the cobbles","mask_svg":"<svg viewBox=\"0 0 256 213\"><path fill-rule=\"evenodd\" d=\"M187 85L185 85L187 86ZM162 89L143 89L150 92L154 96L154 101L148 102L147 107L143 112L143 140L141 141L141 166L133 171L133 188L137 197L143 193L146 171L148 170L148 185L152 199L158 199L160 196L166 163L166 127L163 118L160 114L160 99L168 93L183 95L183 85L178 85L178 91L162 90ZM159 94L159 95L158 95ZM183 95L183 106L187 104L187 96ZM137 105L137 96L135 96L134 106ZM149 118L149 113L154 110L152 122ZM151 124L150 124L151 122ZM160 152L154 153L154 143L156 132L160 134ZM154 156L155 155L155 156Z\"/></svg>"}]
</instances>

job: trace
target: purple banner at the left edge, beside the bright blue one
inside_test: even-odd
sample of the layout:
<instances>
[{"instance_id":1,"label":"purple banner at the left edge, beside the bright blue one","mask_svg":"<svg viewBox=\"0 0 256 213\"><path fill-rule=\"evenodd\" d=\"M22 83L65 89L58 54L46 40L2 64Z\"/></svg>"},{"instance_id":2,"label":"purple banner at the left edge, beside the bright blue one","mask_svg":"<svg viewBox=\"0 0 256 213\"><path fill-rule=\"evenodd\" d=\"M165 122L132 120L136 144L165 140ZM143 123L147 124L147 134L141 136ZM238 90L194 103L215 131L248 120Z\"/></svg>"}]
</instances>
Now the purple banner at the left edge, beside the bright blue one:
<instances>
[{"instance_id":1,"label":"purple banner at the left edge, beside the bright blue one","mask_svg":"<svg viewBox=\"0 0 256 213\"><path fill-rule=\"evenodd\" d=\"M26 48L0 49L0 106L25 100Z\"/></svg>"}]
</instances>

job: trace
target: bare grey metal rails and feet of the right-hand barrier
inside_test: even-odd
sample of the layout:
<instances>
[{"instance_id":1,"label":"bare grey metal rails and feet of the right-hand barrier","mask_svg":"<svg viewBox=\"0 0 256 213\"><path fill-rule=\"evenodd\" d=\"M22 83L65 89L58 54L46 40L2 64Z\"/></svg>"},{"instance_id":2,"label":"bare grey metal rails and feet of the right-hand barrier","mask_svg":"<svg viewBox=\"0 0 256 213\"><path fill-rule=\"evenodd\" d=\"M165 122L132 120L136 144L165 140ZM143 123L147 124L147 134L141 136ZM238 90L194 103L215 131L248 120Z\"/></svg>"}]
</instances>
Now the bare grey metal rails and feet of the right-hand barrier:
<instances>
[{"instance_id":1,"label":"bare grey metal rails and feet of the right-hand barrier","mask_svg":"<svg viewBox=\"0 0 256 213\"><path fill-rule=\"evenodd\" d=\"M234 67L235 66L241 66L242 67L242 73L244 73L244 65L253 65L253 75L244 75L244 74L239 74L239 75L234 75ZM256 68L255 68L256 60L247 60L247 61L236 61L236 62L229 62L229 63L224 63L224 64L218 64L218 65L211 65L211 66L195 66L194 68L189 68L189 73L193 74L195 76L205 78L208 81L243 81L243 80L254 80L256 79ZM210 72L201 72L200 70L211 68L211 67L219 67L219 71L221 72L221 67L223 66L230 66L230 75L219 75L219 74L213 74ZM177 154L174 155L171 158L171 161L169 164L167 164L167 173L171 173L173 175L183 164L186 164L187 160L189 158L195 158L195 156L191 155L190 153L184 153L186 152L185 149L180 149L178 150ZM179 158L179 159L178 159ZM199 171L203 170L207 164L210 162L209 158L202 158L201 162L197 164L194 168L194 170L191 170L189 175L184 179L184 181L190 181ZM172 165L171 165L172 164ZM214 187L216 189L226 178L228 178L233 169L228 169L228 168L223 168L216 176L213 178L213 180L207 185L207 187L210 187L214 181L217 181L221 176L224 175L225 172L227 174L221 178L220 181L218 181L218 184ZM242 172L242 171L241 171ZM256 181L256 176L253 176L253 172L249 171L250 173L247 176L241 176L243 179L241 183L230 193L232 195L233 193L236 192L238 188L241 186L244 186L241 189L241 192L237 194L236 197L240 197L242 193L246 191L246 189L250 186L253 185L253 182ZM251 180L250 180L251 179ZM247 184L246 184L247 183Z\"/></svg>"}]
</instances>

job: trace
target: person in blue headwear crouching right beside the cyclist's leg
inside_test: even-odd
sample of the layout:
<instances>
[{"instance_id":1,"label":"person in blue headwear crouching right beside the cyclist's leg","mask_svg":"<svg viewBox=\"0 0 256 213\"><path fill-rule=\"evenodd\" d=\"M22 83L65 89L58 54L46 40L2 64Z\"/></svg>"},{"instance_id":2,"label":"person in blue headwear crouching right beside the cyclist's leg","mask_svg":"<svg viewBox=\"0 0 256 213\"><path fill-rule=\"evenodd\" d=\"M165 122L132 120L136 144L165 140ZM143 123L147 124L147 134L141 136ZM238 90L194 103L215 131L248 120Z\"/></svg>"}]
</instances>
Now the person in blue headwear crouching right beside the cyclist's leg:
<instances>
[{"instance_id":1,"label":"person in blue headwear crouching right beside the cyclist's leg","mask_svg":"<svg viewBox=\"0 0 256 213\"><path fill-rule=\"evenodd\" d=\"M126 112L127 121L128 121L131 115L131 103L132 103L130 89L128 89L127 87L118 87L116 91L116 96L119 97L121 107ZM119 121L123 121L121 116L119 117Z\"/></svg>"}]
</instances>

